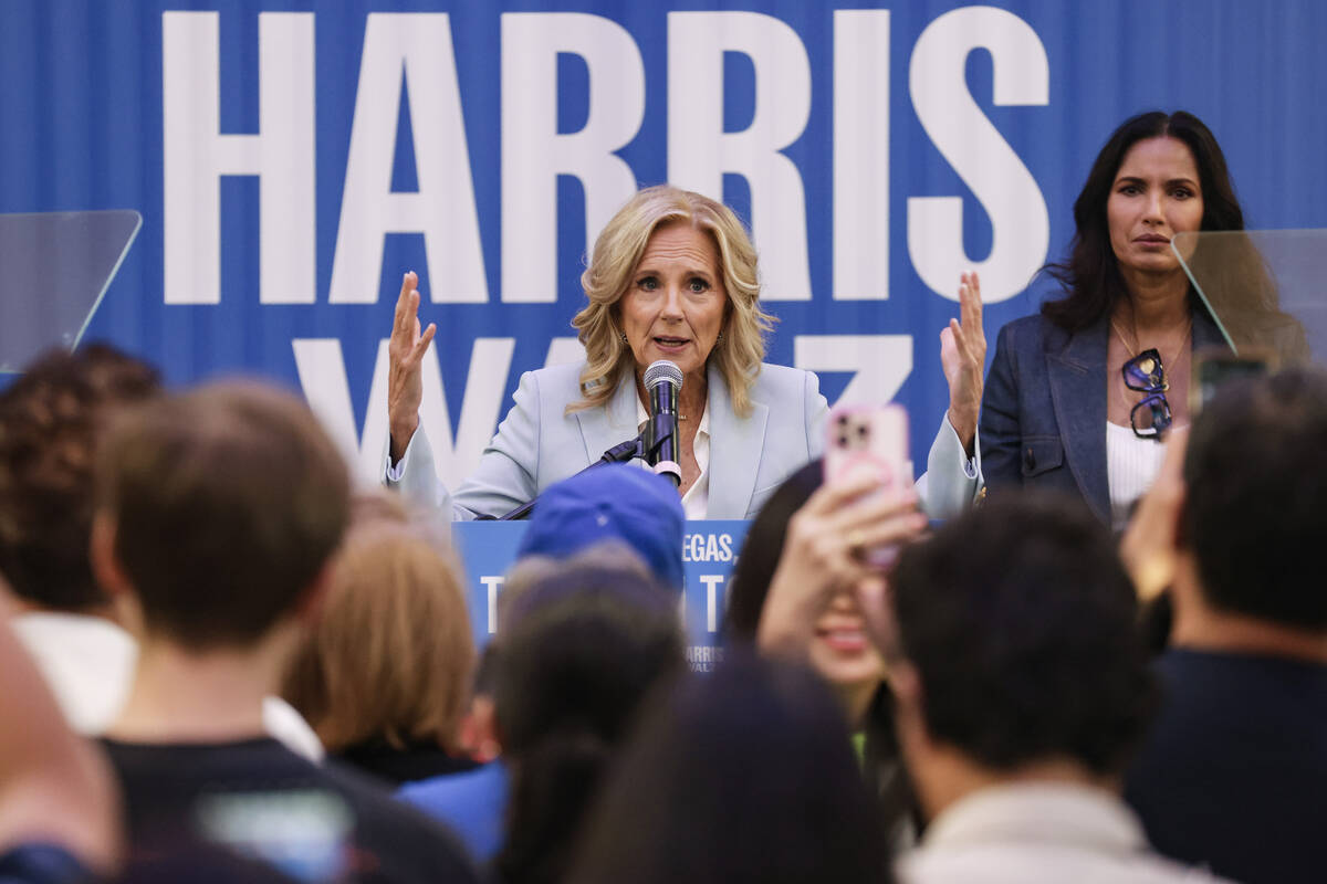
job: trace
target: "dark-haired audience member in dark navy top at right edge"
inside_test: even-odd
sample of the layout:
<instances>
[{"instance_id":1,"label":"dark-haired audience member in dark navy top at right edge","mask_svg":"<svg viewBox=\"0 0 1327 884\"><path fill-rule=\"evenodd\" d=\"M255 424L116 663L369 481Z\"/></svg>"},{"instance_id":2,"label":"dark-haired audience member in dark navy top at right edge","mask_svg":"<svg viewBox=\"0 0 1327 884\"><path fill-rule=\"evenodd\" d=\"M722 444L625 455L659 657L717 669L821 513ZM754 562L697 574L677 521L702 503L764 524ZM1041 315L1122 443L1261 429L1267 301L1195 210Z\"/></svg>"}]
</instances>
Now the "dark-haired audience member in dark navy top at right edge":
<instances>
[{"instance_id":1,"label":"dark-haired audience member in dark navy top at right edge","mask_svg":"<svg viewBox=\"0 0 1327 884\"><path fill-rule=\"evenodd\" d=\"M1327 875L1327 374L1231 382L1193 423L1166 701L1125 795L1245 884Z\"/></svg>"}]
</instances>

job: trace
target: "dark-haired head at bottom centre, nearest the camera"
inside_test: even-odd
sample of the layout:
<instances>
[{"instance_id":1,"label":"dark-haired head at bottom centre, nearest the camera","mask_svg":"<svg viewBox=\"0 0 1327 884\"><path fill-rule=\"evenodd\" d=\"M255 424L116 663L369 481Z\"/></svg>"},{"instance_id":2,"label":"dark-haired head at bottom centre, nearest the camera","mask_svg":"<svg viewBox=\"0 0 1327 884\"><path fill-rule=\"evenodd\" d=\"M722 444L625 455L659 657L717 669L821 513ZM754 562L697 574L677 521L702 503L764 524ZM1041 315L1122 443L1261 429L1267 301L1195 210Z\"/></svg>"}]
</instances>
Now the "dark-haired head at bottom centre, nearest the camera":
<instances>
[{"instance_id":1,"label":"dark-haired head at bottom centre, nearest the camera","mask_svg":"<svg viewBox=\"0 0 1327 884\"><path fill-rule=\"evenodd\" d=\"M567 881L878 884L876 812L824 681L736 651L652 696Z\"/></svg>"}]
</instances>

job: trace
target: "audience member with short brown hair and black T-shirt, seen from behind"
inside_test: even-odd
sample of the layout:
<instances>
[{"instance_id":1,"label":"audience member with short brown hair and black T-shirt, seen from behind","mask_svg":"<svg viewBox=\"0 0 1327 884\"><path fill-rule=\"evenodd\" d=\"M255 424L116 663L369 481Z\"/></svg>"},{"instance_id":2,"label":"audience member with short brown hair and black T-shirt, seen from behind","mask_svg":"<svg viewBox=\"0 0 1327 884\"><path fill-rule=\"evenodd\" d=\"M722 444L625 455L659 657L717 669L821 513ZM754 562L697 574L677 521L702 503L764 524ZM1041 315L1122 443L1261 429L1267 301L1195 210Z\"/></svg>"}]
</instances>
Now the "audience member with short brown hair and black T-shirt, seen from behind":
<instances>
[{"instance_id":1,"label":"audience member with short brown hair and black T-shirt, seen from behind","mask_svg":"<svg viewBox=\"0 0 1327 884\"><path fill-rule=\"evenodd\" d=\"M263 736L261 697L325 591L348 498L308 407L256 384L157 400L104 445L93 563L142 624L104 741L131 864L218 846L307 880L475 880L447 831Z\"/></svg>"}]
</instances>

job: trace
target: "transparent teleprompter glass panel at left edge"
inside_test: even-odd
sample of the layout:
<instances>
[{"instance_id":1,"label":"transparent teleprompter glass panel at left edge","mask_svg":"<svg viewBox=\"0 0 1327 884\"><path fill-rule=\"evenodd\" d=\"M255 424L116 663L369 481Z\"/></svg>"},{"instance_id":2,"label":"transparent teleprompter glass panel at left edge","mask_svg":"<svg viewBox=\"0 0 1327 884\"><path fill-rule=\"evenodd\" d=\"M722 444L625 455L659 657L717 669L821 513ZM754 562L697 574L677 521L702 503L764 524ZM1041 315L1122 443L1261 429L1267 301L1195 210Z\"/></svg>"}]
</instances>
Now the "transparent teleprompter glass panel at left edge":
<instances>
[{"instance_id":1,"label":"transparent teleprompter glass panel at left edge","mask_svg":"<svg viewBox=\"0 0 1327 884\"><path fill-rule=\"evenodd\" d=\"M78 345L142 223L131 209L0 215L0 372Z\"/></svg>"}]
</instances>

